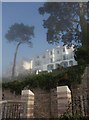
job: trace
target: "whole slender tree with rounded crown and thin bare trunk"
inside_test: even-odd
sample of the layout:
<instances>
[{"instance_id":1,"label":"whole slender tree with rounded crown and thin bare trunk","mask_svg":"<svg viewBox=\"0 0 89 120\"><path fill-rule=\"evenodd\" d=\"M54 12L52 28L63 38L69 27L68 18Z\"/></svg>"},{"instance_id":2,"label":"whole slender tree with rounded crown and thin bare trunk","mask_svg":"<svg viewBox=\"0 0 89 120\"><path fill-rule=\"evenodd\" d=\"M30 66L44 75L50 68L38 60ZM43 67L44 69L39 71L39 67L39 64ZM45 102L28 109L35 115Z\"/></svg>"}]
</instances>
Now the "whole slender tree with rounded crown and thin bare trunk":
<instances>
[{"instance_id":1,"label":"whole slender tree with rounded crown and thin bare trunk","mask_svg":"<svg viewBox=\"0 0 89 120\"><path fill-rule=\"evenodd\" d=\"M23 23L15 23L11 25L8 32L6 33L5 37L9 42L16 42L16 50L14 54L14 62L12 67L12 78L15 76L15 66L16 66L16 57L18 48L21 44L28 44L29 46L32 45L31 39L34 36L34 27L24 25Z\"/></svg>"}]
</instances>

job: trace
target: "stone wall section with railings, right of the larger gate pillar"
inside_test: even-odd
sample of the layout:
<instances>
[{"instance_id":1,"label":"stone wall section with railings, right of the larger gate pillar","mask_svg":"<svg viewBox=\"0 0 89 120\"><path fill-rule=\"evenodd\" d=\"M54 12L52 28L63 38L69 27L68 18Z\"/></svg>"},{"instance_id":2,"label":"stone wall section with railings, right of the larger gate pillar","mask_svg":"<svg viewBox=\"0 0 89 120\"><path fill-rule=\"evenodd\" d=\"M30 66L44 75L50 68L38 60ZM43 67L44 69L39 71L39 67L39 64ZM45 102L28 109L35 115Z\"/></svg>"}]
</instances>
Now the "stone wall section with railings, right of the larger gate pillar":
<instances>
[{"instance_id":1,"label":"stone wall section with railings, right of the larger gate pillar","mask_svg":"<svg viewBox=\"0 0 89 120\"><path fill-rule=\"evenodd\" d=\"M73 114L89 115L89 66L82 75L81 84L72 88Z\"/></svg>"}]
</instances>

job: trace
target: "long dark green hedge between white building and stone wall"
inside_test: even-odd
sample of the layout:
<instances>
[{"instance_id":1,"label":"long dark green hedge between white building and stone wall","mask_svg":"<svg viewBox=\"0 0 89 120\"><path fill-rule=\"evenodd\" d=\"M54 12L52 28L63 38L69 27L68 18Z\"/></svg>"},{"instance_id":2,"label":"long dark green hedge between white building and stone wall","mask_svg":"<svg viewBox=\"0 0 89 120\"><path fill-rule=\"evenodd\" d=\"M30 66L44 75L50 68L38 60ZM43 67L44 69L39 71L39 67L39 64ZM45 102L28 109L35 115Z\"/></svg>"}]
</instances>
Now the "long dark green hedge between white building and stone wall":
<instances>
[{"instance_id":1,"label":"long dark green hedge between white building and stone wall","mask_svg":"<svg viewBox=\"0 0 89 120\"><path fill-rule=\"evenodd\" d=\"M15 91L16 94L21 93L21 90L24 88L41 88L47 91L61 85L68 85L71 88L71 86L81 83L84 69L85 66L82 65L54 70L52 73L30 74L17 77L12 82L4 82L2 87L3 89L10 89L12 92Z\"/></svg>"}]
</instances>

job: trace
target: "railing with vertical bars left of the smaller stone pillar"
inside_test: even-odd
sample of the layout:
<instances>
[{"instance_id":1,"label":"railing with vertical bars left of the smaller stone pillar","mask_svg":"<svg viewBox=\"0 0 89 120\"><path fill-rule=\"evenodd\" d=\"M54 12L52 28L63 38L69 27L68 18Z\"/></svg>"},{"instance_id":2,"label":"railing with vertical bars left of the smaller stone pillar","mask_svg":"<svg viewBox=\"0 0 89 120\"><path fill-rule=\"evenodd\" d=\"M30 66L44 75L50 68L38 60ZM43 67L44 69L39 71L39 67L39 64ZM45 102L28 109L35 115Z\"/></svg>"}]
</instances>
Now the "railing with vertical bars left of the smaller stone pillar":
<instances>
[{"instance_id":1,"label":"railing with vertical bars left of the smaller stone pillar","mask_svg":"<svg viewBox=\"0 0 89 120\"><path fill-rule=\"evenodd\" d=\"M5 100L0 101L0 118L22 118L26 103L24 101Z\"/></svg>"}]
</instances>

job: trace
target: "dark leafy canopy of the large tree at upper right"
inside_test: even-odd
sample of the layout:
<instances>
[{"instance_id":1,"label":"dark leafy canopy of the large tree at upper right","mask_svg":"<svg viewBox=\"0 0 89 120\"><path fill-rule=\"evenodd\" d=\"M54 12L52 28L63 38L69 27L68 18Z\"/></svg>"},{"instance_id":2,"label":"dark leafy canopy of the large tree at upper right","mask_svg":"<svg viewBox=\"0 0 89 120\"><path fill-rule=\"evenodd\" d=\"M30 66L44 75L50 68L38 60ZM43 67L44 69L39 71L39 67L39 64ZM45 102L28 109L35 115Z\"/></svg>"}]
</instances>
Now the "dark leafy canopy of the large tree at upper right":
<instances>
[{"instance_id":1,"label":"dark leafy canopy of the large tree at upper right","mask_svg":"<svg viewBox=\"0 0 89 120\"><path fill-rule=\"evenodd\" d=\"M88 40L89 8L86 2L46 2L39 8L39 13L48 14L43 20L48 43L62 41L68 45L81 45Z\"/></svg>"}]
</instances>

